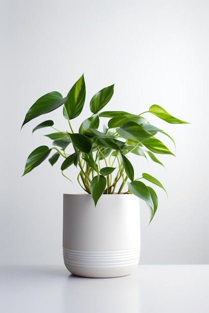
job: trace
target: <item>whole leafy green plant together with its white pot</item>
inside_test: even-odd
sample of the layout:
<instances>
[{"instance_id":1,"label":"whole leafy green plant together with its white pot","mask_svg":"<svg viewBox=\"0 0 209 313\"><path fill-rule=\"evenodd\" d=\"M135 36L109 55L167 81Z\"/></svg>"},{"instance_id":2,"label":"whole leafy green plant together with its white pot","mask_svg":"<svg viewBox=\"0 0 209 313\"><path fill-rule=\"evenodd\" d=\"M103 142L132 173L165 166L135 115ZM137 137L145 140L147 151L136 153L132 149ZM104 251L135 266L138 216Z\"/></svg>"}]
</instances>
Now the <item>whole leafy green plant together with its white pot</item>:
<instances>
[{"instance_id":1,"label":"whole leafy green plant together with its white pot","mask_svg":"<svg viewBox=\"0 0 209 313\"><path fill-rule=\"evenodd\" d=\"M156 135L160 132L173 139L150 124L144 114L154 114L168 123L186 123L156 104L138 115L126 111L104 111L113 91L114 85L110 85L92 97L91 115L76 131L71 120L80 115L84 106L84 75L66 97L57 91L40 97L23 122L25 125L33 118L63 106L65 125L68 124L69 129L56 129L52 120L36 126L33 132L44 127L53 128L53 132L45 135L53 140L52 147L37 147L29 155L23 175L48 157L52 166L62 158L61 172L69 180L66 169L77 167L77 180L83 194L64 194L63 254L65 265L72 273L87 277L121 276L133 271L140 252L138 199L146 202L151 221L158 200L155 190L145 182L165 190L161 182L149 173L136 178L129 158L136 154L139 158L150 158L163 165L156 154L173 155ZM103 117L108 118L108 123L101 128Z\"/></svg>"}]
</instances>

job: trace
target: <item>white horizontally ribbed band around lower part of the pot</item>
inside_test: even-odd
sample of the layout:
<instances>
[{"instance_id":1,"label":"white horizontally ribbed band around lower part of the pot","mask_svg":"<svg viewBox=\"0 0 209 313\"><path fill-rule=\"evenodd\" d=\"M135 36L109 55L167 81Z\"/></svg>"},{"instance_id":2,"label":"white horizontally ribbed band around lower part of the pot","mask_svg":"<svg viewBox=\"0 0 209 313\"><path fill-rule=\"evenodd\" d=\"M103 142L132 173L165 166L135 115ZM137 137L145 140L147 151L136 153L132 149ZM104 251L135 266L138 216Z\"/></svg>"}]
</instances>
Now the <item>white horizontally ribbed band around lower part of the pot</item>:
<instances>
[{"instance_id":1,"label":"white horizontally ribbed band around lower part of the pot","mask_svg":"<svg viewBox=\"0 0 209 313\"><path fill-rule=\"evenodd\" d=\"M137 264L140 247L115 251L82 251L63 248L64 262L80 267L114 267Z\"/></svg>"}]
</instances>

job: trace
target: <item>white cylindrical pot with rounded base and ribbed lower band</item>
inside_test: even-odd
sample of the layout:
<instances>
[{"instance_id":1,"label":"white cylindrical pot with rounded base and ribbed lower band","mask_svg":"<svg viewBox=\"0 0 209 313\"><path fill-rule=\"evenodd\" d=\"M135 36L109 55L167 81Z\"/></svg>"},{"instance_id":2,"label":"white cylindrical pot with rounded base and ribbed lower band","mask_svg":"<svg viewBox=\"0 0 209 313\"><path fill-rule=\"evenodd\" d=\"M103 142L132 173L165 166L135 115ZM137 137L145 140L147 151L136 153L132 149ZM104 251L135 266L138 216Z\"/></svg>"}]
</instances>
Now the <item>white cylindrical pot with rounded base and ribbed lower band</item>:
<instances>
[{"instance_id":1,"label":"white cylindrical pot with rounded base and ribbed lower band","mask_svg":"<svg viewBox=\"0 0 209 313\"><path fill-rule=\"evenodd\" d=\"M140 254L139 198L102 194L96 207L90 194L64 194L63 201L67 269L83 277L132 273Z\"/></svg>"}]
</instances>

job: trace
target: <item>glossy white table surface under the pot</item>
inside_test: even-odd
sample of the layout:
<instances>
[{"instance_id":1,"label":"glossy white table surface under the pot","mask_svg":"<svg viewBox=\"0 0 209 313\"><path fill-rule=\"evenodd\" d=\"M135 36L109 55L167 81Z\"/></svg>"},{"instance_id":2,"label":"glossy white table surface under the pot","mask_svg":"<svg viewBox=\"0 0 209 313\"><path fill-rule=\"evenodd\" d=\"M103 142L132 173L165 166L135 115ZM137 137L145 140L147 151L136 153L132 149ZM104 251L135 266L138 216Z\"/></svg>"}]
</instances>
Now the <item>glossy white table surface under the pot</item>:
<instances>
[{"instance_id":1,"label":"glossy white table surface under the pot","mask_svg":"<svg viewBox=\"0 0 209 313\"><path fill-rule=\"evenodd\" d=\"M65 266L0 267L1 313L208 313L209 265L139 265L118 278Z\"/></svg>"}]
</instances>

